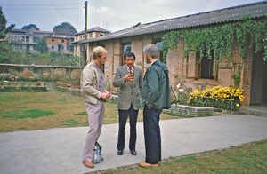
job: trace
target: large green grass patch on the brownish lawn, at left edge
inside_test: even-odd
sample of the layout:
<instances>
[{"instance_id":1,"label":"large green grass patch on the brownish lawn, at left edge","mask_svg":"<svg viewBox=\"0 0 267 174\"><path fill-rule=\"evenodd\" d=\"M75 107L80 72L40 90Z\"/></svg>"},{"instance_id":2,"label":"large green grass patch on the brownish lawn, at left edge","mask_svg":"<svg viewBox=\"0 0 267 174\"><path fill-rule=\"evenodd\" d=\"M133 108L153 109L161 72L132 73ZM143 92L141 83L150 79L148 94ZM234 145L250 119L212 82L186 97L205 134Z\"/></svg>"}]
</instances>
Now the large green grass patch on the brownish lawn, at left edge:
<instances>
[{"instance_id":1,"label":"large green grass patch on the brownish lawn, at left edge","mask_svg":"<svg viewBox=\"0 0 267 174\"><path fill-rule=\"evenodd\" d=\"M3 118L14 118L14 119L23 119L23 118L38 118L42 116L53 115L51 111L43 111L38 109L32 110L15 110L15 111L0 111L0 115Z\"/></svg>"}]
</instances>

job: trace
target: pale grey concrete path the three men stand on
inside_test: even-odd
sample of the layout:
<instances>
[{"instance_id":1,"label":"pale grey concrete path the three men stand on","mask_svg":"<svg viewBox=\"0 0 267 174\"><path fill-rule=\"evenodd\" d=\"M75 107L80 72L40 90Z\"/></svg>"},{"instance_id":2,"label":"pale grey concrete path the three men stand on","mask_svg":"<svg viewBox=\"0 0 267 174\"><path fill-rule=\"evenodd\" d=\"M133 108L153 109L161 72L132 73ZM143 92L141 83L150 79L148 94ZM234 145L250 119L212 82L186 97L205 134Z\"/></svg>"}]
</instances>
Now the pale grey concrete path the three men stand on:
<instances>
[{"instance_id":1,"label":"pale grey concrete path the three men stand on","mask_svg":"<svg viewBox=\"0 0 267 174\"><path fill-rule=\"evenodd\" d=\"M253 115L221 115L166 120L160 122L163 158L208 150L239 146L267 138L267 117ZM138 155L132 156L128 146L118 156L118 124L104 125L99 142L103 146L103 162L88 169L82 164L87 127L0 133L0 173L77 174L105 170L144 161L142 123L137 123ZM129 127L125 132L128 145Z\"/></svg>"}]
</instances>

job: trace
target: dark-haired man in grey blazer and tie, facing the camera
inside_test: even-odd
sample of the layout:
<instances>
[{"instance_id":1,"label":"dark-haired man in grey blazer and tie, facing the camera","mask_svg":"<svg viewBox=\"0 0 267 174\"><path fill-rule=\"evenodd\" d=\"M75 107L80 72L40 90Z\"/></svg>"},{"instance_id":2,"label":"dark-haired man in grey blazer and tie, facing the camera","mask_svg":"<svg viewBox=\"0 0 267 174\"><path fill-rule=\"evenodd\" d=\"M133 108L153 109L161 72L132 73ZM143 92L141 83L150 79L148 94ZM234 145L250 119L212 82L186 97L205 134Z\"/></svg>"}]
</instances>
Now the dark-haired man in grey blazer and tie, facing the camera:
<instances>
[{"instance_id":1,"label":"dark-haired man in grey blazer and tie, facing the camera","mask_svg":"<svg viewBox=\"0 0 267 174\"><path fill-rule=\"evenodd\" d=\"M117 138L117 154L122 155L125 148L125 125L130 117L130 142L129 148L133 155L136 155L136 122L140 108L142 93L142 69L134 66L135 55L133 52L126 52L125 65L117 67L113 86L119 87L117 108L119 115L119 129Z\"/></svg>"}]
</instances>

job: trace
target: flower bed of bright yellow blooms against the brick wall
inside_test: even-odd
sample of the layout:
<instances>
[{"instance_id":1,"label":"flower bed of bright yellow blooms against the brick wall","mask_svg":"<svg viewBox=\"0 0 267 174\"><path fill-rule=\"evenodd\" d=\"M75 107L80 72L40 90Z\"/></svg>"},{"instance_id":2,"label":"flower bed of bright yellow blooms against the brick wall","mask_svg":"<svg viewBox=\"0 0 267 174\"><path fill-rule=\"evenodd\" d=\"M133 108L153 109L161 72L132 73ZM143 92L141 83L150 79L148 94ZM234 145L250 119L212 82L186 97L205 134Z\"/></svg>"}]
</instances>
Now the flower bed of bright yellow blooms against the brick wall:
<instances>
[{"instance_id":1,"label":"flower bed of bright yellow blooms against the brick wall","mask_svg":"<svg viewBox=\"0 0 267 174\"><path fill-rule=\"evenodd\" d=\"M216 86L190 93L190 105L197 107L215 107L237 111L243 100L243 90L232 87Z\"/></svg>"}]
</instances>

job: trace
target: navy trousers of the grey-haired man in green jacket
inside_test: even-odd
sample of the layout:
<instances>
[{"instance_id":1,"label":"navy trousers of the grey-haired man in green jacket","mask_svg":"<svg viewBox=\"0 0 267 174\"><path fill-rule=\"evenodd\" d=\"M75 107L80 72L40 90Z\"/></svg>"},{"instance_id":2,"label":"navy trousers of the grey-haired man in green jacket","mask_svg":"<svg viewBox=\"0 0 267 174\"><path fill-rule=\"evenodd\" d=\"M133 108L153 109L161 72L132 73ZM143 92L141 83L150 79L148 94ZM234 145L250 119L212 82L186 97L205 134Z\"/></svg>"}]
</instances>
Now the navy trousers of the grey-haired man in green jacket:
<instances>
[{"instance_id":1,"label":"navy trousers of the grey-haired man in green jacket","mask_svg":"<svg viewBox=\"0 0 267 174\"><path fill-rule=\"evenodd\" d=\"M162 109L147 107L143 109L143 127L146 147L146 161L151 164L161 161L161 137L159 115Z\"/></svg>"}]
</instances>

